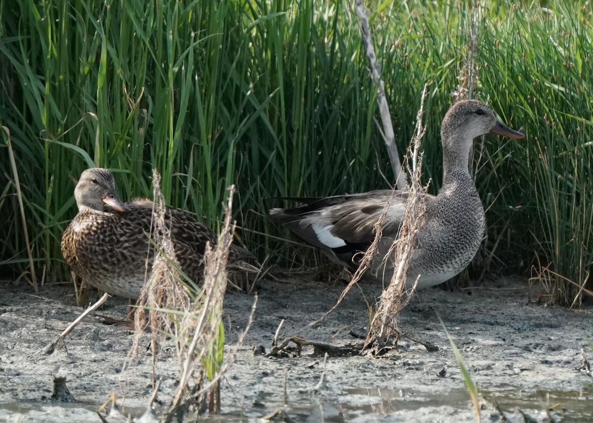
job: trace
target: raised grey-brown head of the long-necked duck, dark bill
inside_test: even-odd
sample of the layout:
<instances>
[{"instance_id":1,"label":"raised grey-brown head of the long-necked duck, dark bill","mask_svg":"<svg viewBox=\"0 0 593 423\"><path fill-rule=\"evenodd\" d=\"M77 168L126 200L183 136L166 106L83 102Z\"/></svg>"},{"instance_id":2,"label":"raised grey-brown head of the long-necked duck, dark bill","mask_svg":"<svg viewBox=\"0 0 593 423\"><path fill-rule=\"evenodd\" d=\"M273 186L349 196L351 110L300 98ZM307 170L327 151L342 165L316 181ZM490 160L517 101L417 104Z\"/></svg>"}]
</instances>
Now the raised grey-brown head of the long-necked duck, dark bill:
<instances>
[{"instance_id":1,"label":"raised grey-brown head of the long-necked duck, dark bill","mask_svg":"<svg viewBox=\"0 0 593 423\"><path fill-rule=\"evenodd\" d=\"M458 101L449 108L441 124L444 160L451 165L467 166L472 140L487 133L515 139L524 137L524 134L498 121L482 101Z\"/></svg>"}]
</instances>

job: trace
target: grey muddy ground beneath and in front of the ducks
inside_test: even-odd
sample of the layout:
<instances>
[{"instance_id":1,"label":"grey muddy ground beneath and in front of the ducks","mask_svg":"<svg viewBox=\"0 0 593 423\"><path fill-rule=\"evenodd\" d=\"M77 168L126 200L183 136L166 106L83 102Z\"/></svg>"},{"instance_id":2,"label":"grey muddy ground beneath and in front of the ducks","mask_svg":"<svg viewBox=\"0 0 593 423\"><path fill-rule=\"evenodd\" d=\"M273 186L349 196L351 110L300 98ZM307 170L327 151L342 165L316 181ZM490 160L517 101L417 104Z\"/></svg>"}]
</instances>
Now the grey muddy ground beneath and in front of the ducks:
<instances>
[{"instance_id":1,"label":"grey muddy ground beneath and in front of the ducks","mask_svg":"<svg viewBox=\"0 0 593 423\"><path fill-rule=\"evenodd\" d=\"M510 421L524 421L521 412L550 421L545 409L556 403L561 406L551 412L553 421L593 421L593 377L584 370L582 353L593 363L585 339L593 339L593 307L546 307L520 278L454 292L420 291L404 309L401 328L438 351L404 339L384 357L330 356L325 366L311 347L304 347L301 357L253 353L252 345L269 351L282 319L280 339L357 342L350 331L366 334L366 302L380 294L371 283L352 289L335 312L308 326L335 304L343 287L263 281L253 326L222 385L222 416L207 421L262 421L280 407L297 422L473 422L467 388L437 315L482 393L483 421L499 421L500 411ZM0 287L0 421L98 422L95 410L111 392L132 414L145 407L152 390L151 355L145 351L134 368L122 372L132 343L129 330L87 318L66 338L67 353L43 353L82 312L71 291L65 284L44 286L37 294L11 283ZM225 297L229 352L253 300L237 292ZM118 319L126 312L126 301L117 298L100 311ZM155 373L162 379L158 398L166 403L177 380L174 348L165 348ZM49 399L56 375L66 377L75 403Z\"/></svg>"}]
</instances>

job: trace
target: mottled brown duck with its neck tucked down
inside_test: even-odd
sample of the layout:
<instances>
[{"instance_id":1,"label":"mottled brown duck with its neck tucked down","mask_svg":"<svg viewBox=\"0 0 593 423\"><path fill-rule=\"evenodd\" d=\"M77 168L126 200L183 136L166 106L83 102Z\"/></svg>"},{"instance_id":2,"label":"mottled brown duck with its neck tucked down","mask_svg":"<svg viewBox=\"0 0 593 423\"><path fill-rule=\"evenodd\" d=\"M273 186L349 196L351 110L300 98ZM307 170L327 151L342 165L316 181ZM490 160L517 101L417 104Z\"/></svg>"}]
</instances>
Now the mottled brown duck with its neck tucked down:
<instances>
[{"instance_id":1,"label":"mottled brown duck with its neck tucked down","mask_svg":"<svg viewBox=\"0 0 593 423\"><path fill-rule=\"evenodd\" d=\"M62 236L66 262L88 284L137 300L154 260L155 248L148 236L154 229L154 203L140 199L124 204L117 197L113 175L101 168L82 172L74 196L78 214ZM203 278L206 243L215 245L218 237L193 217L169 207L165 224L170 229L181 270L199 283ZM243 248L232 245L229 270L255 270L244 262L251 257Z\"/></svg>"}]
</instances>

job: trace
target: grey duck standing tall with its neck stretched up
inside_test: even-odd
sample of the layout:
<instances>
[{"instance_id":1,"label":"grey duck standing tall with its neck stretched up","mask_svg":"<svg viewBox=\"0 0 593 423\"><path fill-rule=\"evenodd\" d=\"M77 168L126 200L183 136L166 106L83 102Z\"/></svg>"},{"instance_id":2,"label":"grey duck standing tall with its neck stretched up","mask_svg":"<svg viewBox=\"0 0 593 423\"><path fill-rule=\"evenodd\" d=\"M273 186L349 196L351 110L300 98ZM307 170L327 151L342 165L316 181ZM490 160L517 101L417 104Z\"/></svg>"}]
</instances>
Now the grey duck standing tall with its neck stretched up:
<instances>
[{"instance_id":1,"label":"grey duck standing tall with its neck stretched up","mask_svg":"<svg viewBox=\"0 0 593 423\"><path fill-rule=\"evenodd\" d=\"M430 287L460 273L476 255L484 235L484 209L468 171L473 139L493 133L524 137L496 120L486 104L464 100L454 104L441 125L443 182L435 196L426 194L423 223L410 258L406 287ZM270 216L351 270L375 239L375 223L384 210L378 252L365 276L388 283L397 257L385 257L403 222L407 192L378 190L362 194L303 200L293 209L272 209ZM387 209L385 206L388 204Z\"/></svg>"}]
</instances>

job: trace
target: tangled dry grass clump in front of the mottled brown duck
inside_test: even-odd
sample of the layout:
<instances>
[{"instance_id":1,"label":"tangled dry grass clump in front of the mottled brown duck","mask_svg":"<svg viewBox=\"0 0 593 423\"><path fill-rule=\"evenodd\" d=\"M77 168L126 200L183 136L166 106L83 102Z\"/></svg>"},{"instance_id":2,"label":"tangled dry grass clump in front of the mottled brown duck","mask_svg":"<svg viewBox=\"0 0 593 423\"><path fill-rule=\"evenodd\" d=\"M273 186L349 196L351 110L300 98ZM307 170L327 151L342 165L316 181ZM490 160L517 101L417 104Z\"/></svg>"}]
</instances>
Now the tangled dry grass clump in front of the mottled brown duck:
<instances>
[{"instance_id":1,"label":"tangled dry grass clump in front of the mottled brown duck","mask_svg":"<svg viewBox=\"0 0 593 423\"><path fill-rule=\"evenodd\" d=\"M257 296L247 328L238 339L234 354L223 366L225 338L222 303L228 283L229 248L235 231L235 224L231 223L234 186L229 188L228 206L218 243L206 246L203 286L199 288L193 285L193 281L187 280L177 262L170 229L165 225L166 208L157 171L153 171L153 179L155 206L152 233L147 235L151 238L149 248L154 248L154 261L151 266L148 260L151 254L147 252L147 281L138 300L141 307L135 315L136 334L130 355L138 355L140 339L146 326L152 332L153 370L164 338L176 342L180 381L176 394L161 417L162 422L170 422L183 419L192 407L202 411L206 394L210 397L210 411L219 411L219 381L233 363L253 322ZM196 379L196 383L190 386L193 379Z\"/></svg>"}]
</instances>

